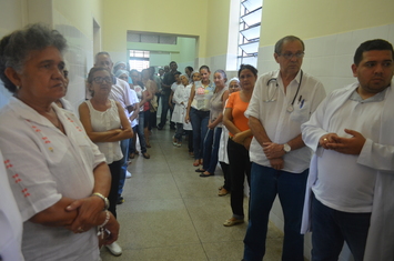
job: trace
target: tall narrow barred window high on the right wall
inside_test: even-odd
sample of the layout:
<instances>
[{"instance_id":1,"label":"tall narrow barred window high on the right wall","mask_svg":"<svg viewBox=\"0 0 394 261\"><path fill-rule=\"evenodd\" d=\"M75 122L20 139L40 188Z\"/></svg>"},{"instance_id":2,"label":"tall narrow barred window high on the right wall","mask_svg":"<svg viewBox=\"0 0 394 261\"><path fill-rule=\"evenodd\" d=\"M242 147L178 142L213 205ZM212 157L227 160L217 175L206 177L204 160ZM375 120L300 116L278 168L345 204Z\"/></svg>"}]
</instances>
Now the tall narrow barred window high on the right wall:
<instances>
[{"instance_id":1,"label":"tall narrow barred window high on the right wall","mask_svg":"<svg viewBox=\"0 0 394 261\"><path fill-rule=\"evenodd\" d=\"M263 0L241 0L238 64L257 66Z\"/></svg>"}]
</instances>

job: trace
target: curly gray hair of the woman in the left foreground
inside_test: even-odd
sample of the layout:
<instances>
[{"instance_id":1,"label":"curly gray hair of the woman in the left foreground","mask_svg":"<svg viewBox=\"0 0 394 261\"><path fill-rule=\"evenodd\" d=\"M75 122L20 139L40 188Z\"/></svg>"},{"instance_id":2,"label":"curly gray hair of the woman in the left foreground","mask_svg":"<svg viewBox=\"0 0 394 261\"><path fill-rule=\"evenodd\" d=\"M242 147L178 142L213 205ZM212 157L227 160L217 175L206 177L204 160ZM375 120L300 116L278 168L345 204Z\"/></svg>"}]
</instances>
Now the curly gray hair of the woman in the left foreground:
<instances>
[{"instance_id":1,"label":"curly gray hair of the woman in the left foreground","mask_svg":"<svg viewBox=\"0 0 394 261\"><path fill-rule=\"evenodd\" d=\"M40 51L47 47L55 47L63 53L67 49L67 40L59 31L42 23L29 24L0 40L0 79L10 92L14 93L17 87L4 74L6 69L10 67L21 72L31 51Z\"/></svg>"}]
</instances>

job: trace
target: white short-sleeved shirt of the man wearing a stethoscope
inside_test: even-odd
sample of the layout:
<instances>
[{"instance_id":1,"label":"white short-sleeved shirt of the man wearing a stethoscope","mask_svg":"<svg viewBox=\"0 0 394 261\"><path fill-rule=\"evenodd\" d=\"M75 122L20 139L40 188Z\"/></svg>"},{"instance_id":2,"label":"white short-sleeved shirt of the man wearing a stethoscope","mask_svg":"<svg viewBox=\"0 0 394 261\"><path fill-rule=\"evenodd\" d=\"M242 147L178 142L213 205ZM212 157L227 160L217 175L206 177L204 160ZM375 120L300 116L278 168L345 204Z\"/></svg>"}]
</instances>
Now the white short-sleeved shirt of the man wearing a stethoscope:
<instances>
[{"instance_id":1,"label":"white short-sleeved shirt of the man wearing a stethoscope","mask_svg":"<svg viewBox=\"0 0 394 261\"><path fill-rule=\"evenodd\" d=\"M276 81L267 82L271 79ZM286 88L284 87L280 71L271 71L261 76L254 87L252 99L249 103L245 116L254 117L263 124L266 134L272 142L284 144L301 133L301 124L306 122L320 102L325 98L323 84L314 77L303 72L299 93L296 90L301 79L301 70ZM287 108L292 103L293 112ZM301 97L301 99L300 99ZM301 102L304 100L303 102ZM300 102L299 102L300 101ZM283 155L284 171L301 173L310 165L312 150L303 147ZM255 138L252 139L250 147L250 158L252 162L261 165L271 167L266 159L263 148Z\"/></svg>"}]
</instances>

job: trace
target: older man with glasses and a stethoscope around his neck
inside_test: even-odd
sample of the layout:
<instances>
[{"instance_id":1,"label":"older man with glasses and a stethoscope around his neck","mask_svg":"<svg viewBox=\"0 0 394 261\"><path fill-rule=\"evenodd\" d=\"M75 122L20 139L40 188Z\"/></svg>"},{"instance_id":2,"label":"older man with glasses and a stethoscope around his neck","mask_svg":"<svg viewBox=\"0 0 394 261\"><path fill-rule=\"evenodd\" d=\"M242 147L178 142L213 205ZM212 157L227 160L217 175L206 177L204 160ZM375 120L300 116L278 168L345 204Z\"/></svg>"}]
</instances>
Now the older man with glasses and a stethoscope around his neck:
<instances>
[{"instance_id":1,"label":"older man with glasses and a stethoscope around his neck","mask_svg":"<svg viewBox=\"0 0 394 261\"><path fill-rule=\"evenodd\" d=\"M301 70L303 41L293 36L279 40L276 71L261 76L245 116L253 133L250 222L244 261L262 260L269 215L276 194L284 215L282 260L304 260L300 233L304 192L312 151L301 138L301 124L325 98L323 84Z\"/></svg>"}]
</instances>

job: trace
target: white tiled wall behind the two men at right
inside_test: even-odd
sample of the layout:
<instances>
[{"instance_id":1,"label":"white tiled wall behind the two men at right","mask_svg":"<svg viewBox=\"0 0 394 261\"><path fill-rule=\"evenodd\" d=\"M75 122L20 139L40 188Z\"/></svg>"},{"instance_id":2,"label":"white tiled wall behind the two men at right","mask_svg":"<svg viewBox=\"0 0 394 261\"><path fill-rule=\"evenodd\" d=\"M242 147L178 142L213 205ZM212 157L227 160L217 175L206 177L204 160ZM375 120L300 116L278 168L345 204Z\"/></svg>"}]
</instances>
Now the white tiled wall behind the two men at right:
<instances>
[{"instance_id":1,"label":"white tiled wall behind the two men at right","mask_svg":"<svg viewBox=\"0 0 394 261\"><path fill-rule=\"evenodd\" d=\"M375 28L367 28L344 33L306 39L305 58L302 69L319 78L327 93L345 87L356 79L353 77L351 66L356 48L364 41L371 39L384 39L394 44L394 23ZM274 46L261 47L259 50L257 69L259 74L276 70L279 64L273 59ZM281 204L276 198L270 220L283 230L283 214ZM305 257L311 258L310 235L305 238ZM347 247L341 255L341 261L352 260Z\"/></svg>"}]
</instances>

